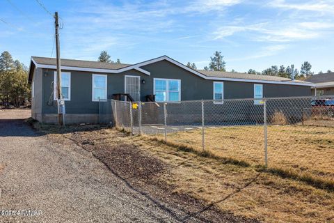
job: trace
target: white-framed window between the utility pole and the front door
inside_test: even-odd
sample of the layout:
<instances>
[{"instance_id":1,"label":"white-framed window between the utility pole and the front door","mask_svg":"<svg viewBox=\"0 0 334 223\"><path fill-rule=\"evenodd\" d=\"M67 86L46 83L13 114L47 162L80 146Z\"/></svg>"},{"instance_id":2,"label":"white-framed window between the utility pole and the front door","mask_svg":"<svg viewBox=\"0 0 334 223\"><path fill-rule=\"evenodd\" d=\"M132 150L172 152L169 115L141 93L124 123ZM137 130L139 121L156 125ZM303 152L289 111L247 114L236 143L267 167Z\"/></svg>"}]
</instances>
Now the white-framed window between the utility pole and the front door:
<instances>
[{"instance_id":1,"label":"white-framed window between the utility pole and the front door","mask_svg":"<svg viewBox=\"0 0 334 223\"><path fill-rule=\"evenodd\" d=\"M92 79L92 100L106 100L106 75L93 75Z\"/></svg>"}]
</instances>

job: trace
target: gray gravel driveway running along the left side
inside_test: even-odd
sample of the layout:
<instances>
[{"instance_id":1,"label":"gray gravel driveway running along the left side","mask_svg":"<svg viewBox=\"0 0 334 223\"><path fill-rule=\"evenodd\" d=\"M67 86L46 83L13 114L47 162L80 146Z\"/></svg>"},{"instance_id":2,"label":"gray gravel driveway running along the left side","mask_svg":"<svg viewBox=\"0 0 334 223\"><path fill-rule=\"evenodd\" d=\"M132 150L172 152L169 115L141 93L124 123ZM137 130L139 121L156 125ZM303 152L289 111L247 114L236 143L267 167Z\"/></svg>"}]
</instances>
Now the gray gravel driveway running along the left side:
<instances>
[{"instance_id":1,"label":"gray gravel driveway running along the left side","mask_svg":"<svg viewBox=\"0 0 334 223\"><path fill-rule=\"evenodd\" d=\"M177 222L91 153L32 130L29 116L0 110L0 222Z\"/></svg>"}]
</instances>

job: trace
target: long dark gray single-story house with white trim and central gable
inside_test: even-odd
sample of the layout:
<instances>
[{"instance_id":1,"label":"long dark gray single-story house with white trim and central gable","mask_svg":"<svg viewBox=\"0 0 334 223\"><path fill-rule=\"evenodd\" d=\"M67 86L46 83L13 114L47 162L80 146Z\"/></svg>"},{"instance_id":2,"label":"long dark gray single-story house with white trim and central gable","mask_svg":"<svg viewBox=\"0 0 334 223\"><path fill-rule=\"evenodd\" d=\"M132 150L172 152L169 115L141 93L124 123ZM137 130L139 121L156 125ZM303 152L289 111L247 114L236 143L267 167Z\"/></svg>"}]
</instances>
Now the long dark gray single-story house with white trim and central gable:
<instances>
[{"instance_id":1,"label":"long dark gray single-story house with white trim and central gable","mask_svg":"<svg viewBox=\"0 0 334 223\"><path fill-rule=\"evenodd\" d=\"M193 70L168 56L136 63L100 63L61 59L61 89L66 105L66 122L97 122L99 100L129 93L134 100L156 101L220 100L311 95L312 84L283 77L237 72ZM32 117L56 122L56 59L31 57ZM261 106L259 100L255 105Z\"/></svg>"}]
</instances>

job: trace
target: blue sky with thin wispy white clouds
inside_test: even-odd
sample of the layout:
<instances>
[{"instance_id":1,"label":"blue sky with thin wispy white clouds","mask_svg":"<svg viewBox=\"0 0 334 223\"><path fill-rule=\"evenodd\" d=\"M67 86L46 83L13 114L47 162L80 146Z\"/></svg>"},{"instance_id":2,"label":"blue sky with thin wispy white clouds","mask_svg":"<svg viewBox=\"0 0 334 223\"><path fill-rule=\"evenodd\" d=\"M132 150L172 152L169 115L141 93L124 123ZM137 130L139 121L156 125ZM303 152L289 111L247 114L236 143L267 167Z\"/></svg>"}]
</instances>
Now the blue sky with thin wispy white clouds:
<instances>
[{"instance_id":1,"label":"blue sky with thin wispy white clouds","mask_svg":"<svg viewBox=\"0 0 334 223\"><path fill-rule=\"evenodd\" d=\"M62 58L95 61L106 50L138 63L166 54L203 68L218 50L227 70L303 61L334 70L334 0L40 1L62 18ZM26 65L51 56L54 19L37 1L1 0L0 20L1 52Z\"/></svg>"}]
</instances>

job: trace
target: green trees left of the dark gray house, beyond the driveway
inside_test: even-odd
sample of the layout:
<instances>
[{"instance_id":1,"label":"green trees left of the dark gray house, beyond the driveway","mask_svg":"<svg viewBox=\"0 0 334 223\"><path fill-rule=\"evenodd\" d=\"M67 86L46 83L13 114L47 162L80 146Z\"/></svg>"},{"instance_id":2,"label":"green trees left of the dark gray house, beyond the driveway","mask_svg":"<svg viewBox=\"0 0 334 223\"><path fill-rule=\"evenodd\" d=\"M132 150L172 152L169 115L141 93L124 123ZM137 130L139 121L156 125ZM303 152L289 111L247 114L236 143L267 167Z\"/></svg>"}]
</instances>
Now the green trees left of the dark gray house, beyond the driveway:
<instances>
[{"instance_id":1,"label":"green trees left of the dark gray house, beyond the driveway","mask_svg":"<svg viewBox=\"0 0 334 223\"><path fill-rule=\"evenodd\" d=\"M20 107L31 100L28 69L8 51L0 56L0 100L5 107Z\"/></svg>"}]
</instances>

